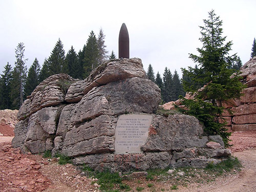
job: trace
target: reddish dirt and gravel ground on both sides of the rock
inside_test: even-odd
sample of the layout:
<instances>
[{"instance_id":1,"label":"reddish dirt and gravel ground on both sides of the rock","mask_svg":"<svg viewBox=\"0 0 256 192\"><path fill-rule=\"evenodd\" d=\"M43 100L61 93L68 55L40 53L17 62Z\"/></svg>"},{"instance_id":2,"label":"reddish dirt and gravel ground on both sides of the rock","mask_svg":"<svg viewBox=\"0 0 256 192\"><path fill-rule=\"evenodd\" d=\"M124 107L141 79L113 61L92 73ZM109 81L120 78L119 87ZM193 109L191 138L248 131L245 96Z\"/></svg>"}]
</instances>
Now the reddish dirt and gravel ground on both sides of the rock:
<instances>
[{"instance_id":1,"label":"reddish dirt and gravel ground on both sides of the rock","mask_svg":"<svg viewBox=\"0 0 256 192\"><path fill-rule=\"evenodd\" d=\"M56 158L20 154L18 148L11 147L12 138L0 137L0 191L98 191L97 184L91 185L93 179L88 179L72 164L59 165ZM256 132L233 133L231 139L233 156L244 166L239 174L218 177L212 183L192 183L187 187L179 186L178 190L165 191L256 191ZM145 188L143 191L151 190Z\"/></svg>"}]
</instances>

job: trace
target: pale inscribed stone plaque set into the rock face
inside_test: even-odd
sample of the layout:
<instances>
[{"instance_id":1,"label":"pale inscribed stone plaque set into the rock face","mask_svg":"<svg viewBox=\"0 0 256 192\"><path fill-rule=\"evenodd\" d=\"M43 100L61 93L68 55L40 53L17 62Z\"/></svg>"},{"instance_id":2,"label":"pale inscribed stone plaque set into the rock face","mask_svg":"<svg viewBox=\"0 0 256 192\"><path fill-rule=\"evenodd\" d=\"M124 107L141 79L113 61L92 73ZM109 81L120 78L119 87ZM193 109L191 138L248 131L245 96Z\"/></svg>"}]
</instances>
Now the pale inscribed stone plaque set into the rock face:
<instances>
[{"instance_id":1,"label":"pale inscribed stone plaque set into the rock face","mask_svg":"<svg viewBox=\"0 0 256 192\"><path fill-rule=\"evenodd\" d=\"M115 130L115 153L142 153L140 147L146 143L152 115L121 115Z\"/></svg>"}]
</instances>

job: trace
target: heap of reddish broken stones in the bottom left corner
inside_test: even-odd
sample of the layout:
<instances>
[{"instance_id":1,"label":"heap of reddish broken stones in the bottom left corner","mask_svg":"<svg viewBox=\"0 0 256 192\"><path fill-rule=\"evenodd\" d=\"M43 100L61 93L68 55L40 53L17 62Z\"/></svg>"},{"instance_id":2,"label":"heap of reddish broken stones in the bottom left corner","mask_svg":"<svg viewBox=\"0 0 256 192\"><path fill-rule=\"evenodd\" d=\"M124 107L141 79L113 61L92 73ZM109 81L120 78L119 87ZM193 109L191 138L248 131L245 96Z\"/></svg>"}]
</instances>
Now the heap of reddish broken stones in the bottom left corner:
<instances>
[{"instance_id":1,"label":"heap of reddish broken stones in the bottom left corner","mask_svg":"<svg viewBox=\"0 0 256 192\"><path fill-rule=\"evenodd\" d=\"M33 155L20 154L10 142L0 143L0 191L42 191L51 183Z\"/></svg>"}]
</instances>

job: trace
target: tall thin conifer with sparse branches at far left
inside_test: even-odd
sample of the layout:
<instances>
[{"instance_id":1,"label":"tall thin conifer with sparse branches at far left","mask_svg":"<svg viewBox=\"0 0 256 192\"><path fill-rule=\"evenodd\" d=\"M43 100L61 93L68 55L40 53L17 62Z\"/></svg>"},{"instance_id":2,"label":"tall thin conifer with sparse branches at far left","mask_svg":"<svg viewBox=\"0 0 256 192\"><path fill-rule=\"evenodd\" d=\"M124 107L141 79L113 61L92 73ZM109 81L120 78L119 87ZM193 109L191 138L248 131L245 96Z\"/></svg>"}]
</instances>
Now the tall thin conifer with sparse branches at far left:
<instances>
[{"instance_id":1,"label":"tall thin conifer with sparse branches at far left","mask_svg":"<svg viewBox=\"0 0 256 192\"><path fill-rule=\"evenodd\" d=\"M16 61L12 71L11 93L12 109L19 109L24 101L24 86L27 78L27 67L25 63L28 59L24 59L25 46L20 42L15 49Z\"/></svg>"}]
</instances>

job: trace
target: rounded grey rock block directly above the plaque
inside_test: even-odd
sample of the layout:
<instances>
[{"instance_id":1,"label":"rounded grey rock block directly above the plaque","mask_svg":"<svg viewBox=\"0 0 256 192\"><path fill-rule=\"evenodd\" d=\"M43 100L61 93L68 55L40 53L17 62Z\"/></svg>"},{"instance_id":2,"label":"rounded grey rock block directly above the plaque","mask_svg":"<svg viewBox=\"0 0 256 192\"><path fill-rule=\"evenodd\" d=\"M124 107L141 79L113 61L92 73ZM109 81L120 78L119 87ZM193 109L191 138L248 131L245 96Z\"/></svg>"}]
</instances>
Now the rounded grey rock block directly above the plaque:
<instances>
[{"instance_id":1,"label":"rounded grey rock block directly above the plaque","mask_svg":"<svg viewBox=\"0 0 256 192\"><path fill-rule=\"evenodd\" d=\"M115 81L94 88L84 96L72 121L79 123L103 114L151 114L157 110L159 102L160 89L151 80L134 77Z\"/></svg>"}]
</instances>

